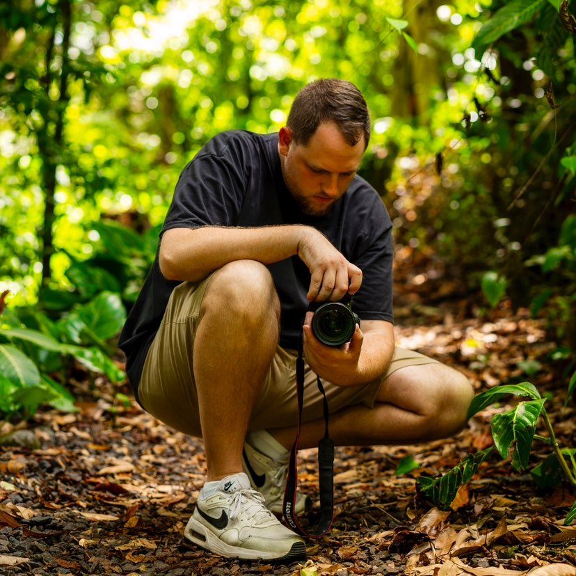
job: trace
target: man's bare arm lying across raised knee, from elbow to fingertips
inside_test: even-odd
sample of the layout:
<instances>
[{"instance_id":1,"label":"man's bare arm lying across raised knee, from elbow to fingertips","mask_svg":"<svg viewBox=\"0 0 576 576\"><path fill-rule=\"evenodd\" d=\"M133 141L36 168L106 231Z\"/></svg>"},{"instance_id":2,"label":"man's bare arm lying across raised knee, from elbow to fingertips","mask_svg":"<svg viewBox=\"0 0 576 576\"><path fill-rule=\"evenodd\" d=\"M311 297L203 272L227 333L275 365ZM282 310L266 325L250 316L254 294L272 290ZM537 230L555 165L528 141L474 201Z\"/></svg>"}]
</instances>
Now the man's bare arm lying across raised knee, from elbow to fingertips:
<instances>
[{"instance_id":1,"label":"man's bare arm lying across raised knee, from elbow to fingertips","mask_svg":"<svg viewBox=\"0 0 576 576\"><path fill-rule=\"evenodd\" d=\"M198 282L235 260L262 264L298 255L310 270L310 301L338 301L354 294L362 272L311 226L201 227L167 230L160 243L160 271L168 280Z\"/></svg>"}]
</instances>

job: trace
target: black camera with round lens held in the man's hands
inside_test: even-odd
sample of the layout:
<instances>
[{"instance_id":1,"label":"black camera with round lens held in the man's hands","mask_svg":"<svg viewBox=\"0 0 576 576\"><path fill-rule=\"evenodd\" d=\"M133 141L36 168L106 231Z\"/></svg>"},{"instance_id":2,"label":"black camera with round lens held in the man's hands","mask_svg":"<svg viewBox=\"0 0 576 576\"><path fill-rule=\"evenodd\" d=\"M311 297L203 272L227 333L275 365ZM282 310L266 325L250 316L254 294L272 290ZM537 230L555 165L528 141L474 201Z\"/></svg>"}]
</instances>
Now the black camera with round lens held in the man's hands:
<instances>
[{"instance_id":1,"label":"black camera with round lens held in the man's hands","mask_svg":"<svg viewBox=\"0 0 576 576\"><path fill-rule=\"evenodd\" d=\"M342 346L350 342L356 324L360 326L358 314L352 311L352 302L326 302L314 310L312 332L326 346Z\"/></svg>"}]
</instances>

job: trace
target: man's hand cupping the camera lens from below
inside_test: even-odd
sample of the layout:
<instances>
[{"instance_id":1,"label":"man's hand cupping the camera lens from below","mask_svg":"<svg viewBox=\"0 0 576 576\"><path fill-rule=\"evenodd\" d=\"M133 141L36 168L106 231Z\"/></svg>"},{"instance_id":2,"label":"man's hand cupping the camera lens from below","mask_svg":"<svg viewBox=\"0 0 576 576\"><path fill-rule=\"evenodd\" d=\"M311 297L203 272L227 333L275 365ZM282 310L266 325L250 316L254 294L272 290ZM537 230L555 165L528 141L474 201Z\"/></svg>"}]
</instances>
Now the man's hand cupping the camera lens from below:
<instances>
[{"instance_id":1,"label":"man's hand cupping the camera lens from below","mask_svg":"<svg viewBox=\"0 0 576 576\"><path fill-rule=\"evenodd\" d=\"M314 312L306 312L303 326L303 347L306 362L314 372L329 382L339 386L350 386L358 376L358 362L364 335L360 326L356 329L350 342L339 348L322 344L312 332Z\"/></svg>"}]
</instances>

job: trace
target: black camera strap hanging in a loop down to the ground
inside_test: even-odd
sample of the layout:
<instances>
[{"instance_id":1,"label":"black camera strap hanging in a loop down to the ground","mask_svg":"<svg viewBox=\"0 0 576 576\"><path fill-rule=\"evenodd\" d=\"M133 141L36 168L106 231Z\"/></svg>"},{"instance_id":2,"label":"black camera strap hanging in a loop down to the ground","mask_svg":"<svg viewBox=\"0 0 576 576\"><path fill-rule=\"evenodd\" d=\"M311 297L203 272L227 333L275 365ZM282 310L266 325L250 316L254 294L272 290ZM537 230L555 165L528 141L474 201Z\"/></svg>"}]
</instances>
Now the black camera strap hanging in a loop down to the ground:
<instances>
[{"instance_id":1,"label":"black camera strap hanging in a loop down to the ground","mask_svg":"<svg viewBox=\"0 0 576 576\"><path fill-rule=\"evenodd\" d=\"M304 401L304 355L302 333L298 343L298 359L296 360L296 394L298 396L298 431L296 439L290 453L290 462L288 465L288 477L286 481L286 490L284 492L284 503L282 509L284 518L295 532L301 536L309 538L319 538L326 534L332 526L334 516L334 442L328 435L328 399L326 392L316 376L318 390L320 390L324 401L324 438L318 442L318 477L320 488L320 518L316 529L306 531L303 529L296 515L296 486L298 485L298 464L296 457L298 455L298 442L300 440L300 427L302 424L302 407Z\"/></svg>"}]
</instances>

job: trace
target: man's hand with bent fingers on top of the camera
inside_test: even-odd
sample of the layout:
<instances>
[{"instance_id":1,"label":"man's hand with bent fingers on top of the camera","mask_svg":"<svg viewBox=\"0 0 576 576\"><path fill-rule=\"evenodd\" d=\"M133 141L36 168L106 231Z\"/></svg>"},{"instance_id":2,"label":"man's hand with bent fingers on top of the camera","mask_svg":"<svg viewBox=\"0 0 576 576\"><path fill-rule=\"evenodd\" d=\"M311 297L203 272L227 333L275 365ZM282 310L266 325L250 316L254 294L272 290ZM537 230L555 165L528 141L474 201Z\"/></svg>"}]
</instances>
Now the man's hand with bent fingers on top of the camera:
<instances>
[{"instance_id":1,"label":"man's hand with bent fingers on top of the camera","mask_svg":"<svg viewBox=\"0 0 576 576\"><path fill-rule=\"evenodd\" d=\"M298 242L298 257L310 270L307 299L317 302L342 299L355 294L362 284L362 271L348 262L318 230L303 227L303 239Z\"/></svg>"}]
</instances>

